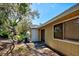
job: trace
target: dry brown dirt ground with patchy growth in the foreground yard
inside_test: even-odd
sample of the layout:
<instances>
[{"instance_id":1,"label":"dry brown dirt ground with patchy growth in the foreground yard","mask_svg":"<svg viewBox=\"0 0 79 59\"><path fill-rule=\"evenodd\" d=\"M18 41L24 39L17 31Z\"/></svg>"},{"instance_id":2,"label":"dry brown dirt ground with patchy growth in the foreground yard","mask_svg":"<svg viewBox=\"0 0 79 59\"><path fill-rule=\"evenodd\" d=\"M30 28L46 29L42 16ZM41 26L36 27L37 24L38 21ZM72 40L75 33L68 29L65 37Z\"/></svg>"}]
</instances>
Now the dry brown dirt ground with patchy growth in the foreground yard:
<instances>
[{"instance_id":1,"label":"dry brown dirt ground with patchy growth in the foreground yard","mask_svg":"<svg viewBox=\"0 0 79 59\"><path fill-rule=\"evenodd\" d=\"M9 45L5 44L4 47L5 49L0 50L1 56L3 56L6 53L6 51L9 48ZM3 46L0 46L0 49L1 48L3 48ZM59 55L46 46L42 45L39 46L39 44L36 46L34 43L27 43L27 44L21 43L16 44L13 52L8 56L59 56Z\"/></svg>"}]
</instances>

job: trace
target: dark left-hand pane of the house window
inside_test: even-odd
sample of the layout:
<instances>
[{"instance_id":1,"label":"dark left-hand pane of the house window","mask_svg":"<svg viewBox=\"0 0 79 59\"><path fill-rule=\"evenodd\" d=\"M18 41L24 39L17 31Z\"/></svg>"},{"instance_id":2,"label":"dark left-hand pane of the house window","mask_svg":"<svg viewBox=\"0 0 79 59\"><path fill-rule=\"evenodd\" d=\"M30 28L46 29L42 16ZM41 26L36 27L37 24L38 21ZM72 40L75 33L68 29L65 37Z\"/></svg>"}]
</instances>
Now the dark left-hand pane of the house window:
<instances>
[{"instance_id":1,"label":"dark left-hand pane of the house window","mask_svg":"<svg viewBox=\"0 0 79 59\"><path fill-rule=\"evenodd\" d=\"M63 24L54 26L54 38L63 39Z\"/></svg>"}]
</instances>

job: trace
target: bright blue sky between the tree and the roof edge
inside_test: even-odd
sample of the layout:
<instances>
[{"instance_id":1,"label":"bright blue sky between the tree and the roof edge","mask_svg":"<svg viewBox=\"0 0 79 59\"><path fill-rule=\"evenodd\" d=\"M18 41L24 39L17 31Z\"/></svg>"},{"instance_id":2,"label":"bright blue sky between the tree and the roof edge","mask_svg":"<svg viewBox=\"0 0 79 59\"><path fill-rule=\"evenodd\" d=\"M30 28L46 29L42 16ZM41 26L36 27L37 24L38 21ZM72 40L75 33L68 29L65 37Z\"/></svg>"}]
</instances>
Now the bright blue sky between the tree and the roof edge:
<instances>
[{"instance_id":1,"label":"bright blue sky between the tree and the roof edge","mask_svg":"<svg viewBox=\"0 0 79 59\"><path fill-rule=\"evenodd\" d=\"M74 5L74 3L33 3L31 7L33 10L38 10L39 18L32 20L32 23L43 24Z\"/></svg>"}]
</instances>

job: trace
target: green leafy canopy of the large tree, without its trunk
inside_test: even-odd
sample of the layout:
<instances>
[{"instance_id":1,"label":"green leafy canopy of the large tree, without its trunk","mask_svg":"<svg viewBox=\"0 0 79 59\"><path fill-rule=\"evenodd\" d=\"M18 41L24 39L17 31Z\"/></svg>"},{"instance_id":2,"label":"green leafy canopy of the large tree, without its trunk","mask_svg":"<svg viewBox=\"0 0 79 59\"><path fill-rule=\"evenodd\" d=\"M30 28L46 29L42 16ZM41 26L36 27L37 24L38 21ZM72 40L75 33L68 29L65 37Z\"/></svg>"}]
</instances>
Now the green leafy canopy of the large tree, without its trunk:
<instances>
[{"instance_id":1,"label":"green leafy canopy of the large tree, without its trunk","mask_svg":"<svg viewBox=\"0 0 79 59\"><path fill-rule=\"evenodd\" d=\"M32 25L31 20L39 15L37 11L31 9L31 4L6 3L1 5L4 7L0 8L0 24L8 29L12 35L27 32Z\"/></svg>"}]
</instances>

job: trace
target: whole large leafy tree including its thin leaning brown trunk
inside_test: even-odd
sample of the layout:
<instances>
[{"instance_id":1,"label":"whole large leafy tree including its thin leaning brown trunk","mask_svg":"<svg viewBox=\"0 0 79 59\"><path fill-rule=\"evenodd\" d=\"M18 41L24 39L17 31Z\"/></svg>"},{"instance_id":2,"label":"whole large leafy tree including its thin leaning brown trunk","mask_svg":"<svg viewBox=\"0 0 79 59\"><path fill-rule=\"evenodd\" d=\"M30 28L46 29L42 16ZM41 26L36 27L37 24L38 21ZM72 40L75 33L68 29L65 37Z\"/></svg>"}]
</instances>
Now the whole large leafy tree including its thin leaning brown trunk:
<instances>
[{"instance_id":1,"label":"whole large leafy tree including its thin leaning brown trunk","mask_svg":"<svg viewBox=\"0 0 79 59\"><path fill-rule=\"evenodd\" d=\"M33 11L30 6L31 4L28 3L0 4L0 35L4 36L4 33L7 33L8 38L13 41L5 55L12 53L15 37L22 40L26 32L30 30L32 19L39 16L39 13Z\"/></svg>"}]
</instances>

